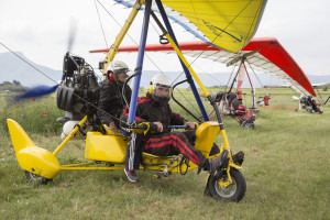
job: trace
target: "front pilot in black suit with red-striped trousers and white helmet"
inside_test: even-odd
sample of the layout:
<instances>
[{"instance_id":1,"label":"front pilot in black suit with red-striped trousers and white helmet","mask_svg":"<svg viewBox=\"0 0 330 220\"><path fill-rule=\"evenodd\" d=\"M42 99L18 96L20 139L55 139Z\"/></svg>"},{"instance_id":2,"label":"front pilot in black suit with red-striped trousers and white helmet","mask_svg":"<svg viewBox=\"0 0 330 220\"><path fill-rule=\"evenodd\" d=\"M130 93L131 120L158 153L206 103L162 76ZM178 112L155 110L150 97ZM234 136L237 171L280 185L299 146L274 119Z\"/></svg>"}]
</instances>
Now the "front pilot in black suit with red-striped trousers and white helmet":
<instances>
[{"instance_id":1,"label":"front pilot in black suit with red-striped trousers and white helmet","mask_svg":"<svg viewBox=\"0 0 330 220\"><path fill-rule=\"evenodd\" d=\"M215 173L224 164L228 151L223 151L219 157L208 160L200 151L194 147L195 130L170 132L168 125L187 125L190 129L195 129L194 122L188 122L178 113L172 111L168 105L170 92L170 79L164 74L158 74L152 78L151 88L146 92L146 97L140 97L138 100L135 120L138 122L148 122L150 130L156 132L146 136L142 135L142 138L138 135L138 141L135 146L133 146L135 148L128 147L124 172L130 182L139 180L134 169L139 168L140 157L138 155L142 150L158 156L183 154L198 165L198 173L201 169ZM128 116L128 109L124 109L122 118L127 119Z\"/></svg>"}]
</instances>

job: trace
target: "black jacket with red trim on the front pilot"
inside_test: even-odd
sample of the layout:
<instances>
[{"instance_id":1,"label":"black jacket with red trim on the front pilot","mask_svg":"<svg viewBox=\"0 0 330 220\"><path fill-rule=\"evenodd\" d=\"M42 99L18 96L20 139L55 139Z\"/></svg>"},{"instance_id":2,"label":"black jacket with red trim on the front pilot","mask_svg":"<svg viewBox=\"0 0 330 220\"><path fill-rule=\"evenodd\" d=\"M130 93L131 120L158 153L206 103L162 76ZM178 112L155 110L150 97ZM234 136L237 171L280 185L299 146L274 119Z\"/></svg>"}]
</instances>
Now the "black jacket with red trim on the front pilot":
<instances>
[{"instance_id":1,"label":"black jacket with red trim on the front pilot","mask_svg":"<svg viewBox=\"0 0 330 220\"><path fill-rule=\"evenodd\" d=\"M129 109L123 110L122 119L127 120L129 117ZM164 132L168 125L184 125L185 119L178 113L173 112L168 102L160 103L152 99L147 92L146 97L139 97L136 105L135 120L139 122L162 122Z\"/></svg>"}]
</instances>

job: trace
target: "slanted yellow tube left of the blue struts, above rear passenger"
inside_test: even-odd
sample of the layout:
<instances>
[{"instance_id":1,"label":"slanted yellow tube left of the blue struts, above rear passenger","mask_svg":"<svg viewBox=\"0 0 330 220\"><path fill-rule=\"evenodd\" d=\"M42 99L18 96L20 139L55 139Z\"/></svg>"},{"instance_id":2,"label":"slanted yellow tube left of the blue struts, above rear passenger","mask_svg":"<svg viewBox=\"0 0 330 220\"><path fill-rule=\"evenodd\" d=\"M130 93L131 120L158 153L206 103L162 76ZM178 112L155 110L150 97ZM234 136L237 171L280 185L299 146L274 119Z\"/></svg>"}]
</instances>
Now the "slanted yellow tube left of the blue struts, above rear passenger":
<instances>
[{"instance_id":1,"label":"slanted yellow tube left of the blue struts, above rear passenger","mask_svg":"<svg viewBox=\"0 0 330 220\"><path fill-rule=\"evenodd\" d=\"M131 24L133 23L140 8L141 8L141 3L138 0L134 4L129 18L125 20L123 28L121 29L120 33L116 37L114 43L110 46L110 48L105 57L105 61L103 61L103 78L105 79L107 77L108 66L113 61L116 53L118 51L118 47L120 46L120 44L121 44L123 37L125 36L125 34L128 33L129 29L131 28Z\"/></svg>"}]
</instances>

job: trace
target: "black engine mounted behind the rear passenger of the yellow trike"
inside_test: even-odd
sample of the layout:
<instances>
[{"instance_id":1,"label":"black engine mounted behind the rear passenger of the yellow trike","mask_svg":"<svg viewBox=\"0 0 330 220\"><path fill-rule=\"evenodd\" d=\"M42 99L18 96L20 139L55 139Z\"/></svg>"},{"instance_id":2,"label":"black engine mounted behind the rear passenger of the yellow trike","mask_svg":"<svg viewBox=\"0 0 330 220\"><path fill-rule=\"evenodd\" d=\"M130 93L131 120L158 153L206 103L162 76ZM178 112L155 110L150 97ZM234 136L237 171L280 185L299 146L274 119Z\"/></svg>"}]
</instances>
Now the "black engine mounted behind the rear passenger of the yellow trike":
<instances>
[{"instance_id":1,"label":"black engine mounted behind the rear passenger of the yellow trike","mask_svg":"<svg viewBox=\"0 0 330 220\"><path fill-rule=\"evenodd\" d=\"M63 62L63 78L57 89L57 107L65 111L65 116L57 119L59 123L73 121L78 123L86 114L88 117L88 130L97 124L97 106L99 100L99 84L92 67L79 56L67 53ZM62 138L68 135L67 124ZM81 128L80 131L87 128Z\"/></svg>"}]
</instances>

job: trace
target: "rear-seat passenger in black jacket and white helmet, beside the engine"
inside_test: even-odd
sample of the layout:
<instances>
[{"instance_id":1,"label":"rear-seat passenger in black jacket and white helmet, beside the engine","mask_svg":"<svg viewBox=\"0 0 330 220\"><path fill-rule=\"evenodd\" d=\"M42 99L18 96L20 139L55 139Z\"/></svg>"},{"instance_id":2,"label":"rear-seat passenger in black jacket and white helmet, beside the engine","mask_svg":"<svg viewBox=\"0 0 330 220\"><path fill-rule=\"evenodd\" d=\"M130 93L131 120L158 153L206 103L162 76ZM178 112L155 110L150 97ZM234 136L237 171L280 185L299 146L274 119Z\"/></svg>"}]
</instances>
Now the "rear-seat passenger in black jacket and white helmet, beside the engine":
<instances>
[{"instance_id":1,"label":"rear-seat passenger in black jacket and white helmet, beside the engine","mask_svg":"<svg viewBox=\"0 0 330 220\"><path fill-rule=\"evenodd\" d=\"M125 100L131 100L132 90L128 85L123 88L129 72L128 65L120 61L110 65L112 72L109 72L108 78L102 82L97 114L102 124L107 124L112 132L118 132L120 116L127 108Z\"/></svg>"}]
</instances>

